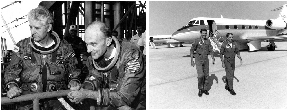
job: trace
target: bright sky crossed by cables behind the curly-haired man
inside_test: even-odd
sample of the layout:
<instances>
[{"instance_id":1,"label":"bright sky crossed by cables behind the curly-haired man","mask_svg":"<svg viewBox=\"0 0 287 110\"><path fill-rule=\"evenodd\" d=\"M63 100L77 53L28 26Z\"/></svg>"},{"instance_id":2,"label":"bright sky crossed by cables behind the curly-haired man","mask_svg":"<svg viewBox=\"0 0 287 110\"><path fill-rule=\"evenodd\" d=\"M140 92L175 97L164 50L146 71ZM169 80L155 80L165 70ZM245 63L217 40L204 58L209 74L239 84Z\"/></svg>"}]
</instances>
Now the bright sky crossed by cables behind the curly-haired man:
<instances>
[{"instance_id":1,"label":"bright sky crossed by cables behind the curly-haired man","mask_svg":"<svg viewBox=\"0 0 287 110\"><path fill-rule=\"evenodd\" d=\"M1 8L9 5L10 3L13 3L14 1L1 1ZM6 23L10 23L16 18L21 18L27 13L34 9L37 8L39 3L41 1L22 1L21 3L15 3L13 5L10 5L6 8L3 8L1 10L1 15L3 16L4 20ZM7 49L12 50L14 47L14 44L9 36L9 33L6 31L6 27L4 26L3 20L1 19L1 37L6 39L7 43ZM29 22L24 23L25 21L28 21L27 16L23 17L23 19L19 19L18 21L14 21L10 24L8 24L9 28L14 27L15 25L19 25L13 29L10 29L10 32L15 40L15 42L19 42L21 39L28 38L31 36L30 34L30 28L29 28ZM24 23L20 25L21 23ZM6 31L6 32L4 32ZM4 33L3 33L4 32Z\"/></svg>"}]
</instances>

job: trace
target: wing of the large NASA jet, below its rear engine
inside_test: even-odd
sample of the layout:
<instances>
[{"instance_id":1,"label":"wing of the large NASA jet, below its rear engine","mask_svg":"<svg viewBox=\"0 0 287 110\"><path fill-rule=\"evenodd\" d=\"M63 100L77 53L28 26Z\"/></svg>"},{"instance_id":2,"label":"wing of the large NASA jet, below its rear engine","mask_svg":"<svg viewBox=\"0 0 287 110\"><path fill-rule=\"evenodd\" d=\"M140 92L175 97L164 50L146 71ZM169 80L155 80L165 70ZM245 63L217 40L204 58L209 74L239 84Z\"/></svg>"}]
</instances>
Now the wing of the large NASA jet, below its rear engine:
<instances>
[{"instance_id":1,"label":"wing of the large NASA jet, below its rear engine","mask_svg":"<svg viewBox=\"0 0 287 110\"><path fill-rule=\"evenodd\" d=\"M264 40L287 40L287 35L283 36L251 36L244 38L248 41L264 41Z\"/></svg>"}]
</instances>

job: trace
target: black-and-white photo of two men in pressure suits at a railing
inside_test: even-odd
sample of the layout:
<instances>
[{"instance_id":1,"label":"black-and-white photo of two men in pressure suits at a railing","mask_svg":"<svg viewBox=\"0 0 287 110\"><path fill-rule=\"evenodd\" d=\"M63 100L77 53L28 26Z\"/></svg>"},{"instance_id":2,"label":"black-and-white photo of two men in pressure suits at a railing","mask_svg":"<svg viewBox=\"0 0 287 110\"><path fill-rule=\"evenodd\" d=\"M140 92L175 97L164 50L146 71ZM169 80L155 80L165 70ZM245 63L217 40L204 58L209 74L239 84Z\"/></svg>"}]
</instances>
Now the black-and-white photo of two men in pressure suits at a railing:
<instances>
[{"instance_id":1,"label":"black-and-white photo of two men in pressure suits at a railing","mask_svg":"<svg viewBox=\"0 0 287 110\"><path fill-rule=\"evenodd\" d=\"M147 109L147 1L1 1L1 110Z\"/></svg>"}]
</instances>

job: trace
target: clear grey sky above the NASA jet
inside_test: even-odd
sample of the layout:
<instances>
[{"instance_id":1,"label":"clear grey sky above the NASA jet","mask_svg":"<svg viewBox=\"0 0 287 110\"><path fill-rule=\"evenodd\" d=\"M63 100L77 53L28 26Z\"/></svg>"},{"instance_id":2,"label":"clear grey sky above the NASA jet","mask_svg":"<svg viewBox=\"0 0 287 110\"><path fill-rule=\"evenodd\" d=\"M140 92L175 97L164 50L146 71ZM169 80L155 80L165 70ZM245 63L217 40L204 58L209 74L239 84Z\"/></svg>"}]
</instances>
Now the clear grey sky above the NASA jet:
<instances>
[{"instance_id":1,"label":"clear grey sky above the NASA jet","mask_svg":"<svg viewBox=\"0 0 287 110\"><path fill-rule=\"evenodd\" d=\"M197 17L277 19L281 10L271 10L284 4L287 1L150 1L149 35L173 34Z\"/></svg>"}]
</instances>

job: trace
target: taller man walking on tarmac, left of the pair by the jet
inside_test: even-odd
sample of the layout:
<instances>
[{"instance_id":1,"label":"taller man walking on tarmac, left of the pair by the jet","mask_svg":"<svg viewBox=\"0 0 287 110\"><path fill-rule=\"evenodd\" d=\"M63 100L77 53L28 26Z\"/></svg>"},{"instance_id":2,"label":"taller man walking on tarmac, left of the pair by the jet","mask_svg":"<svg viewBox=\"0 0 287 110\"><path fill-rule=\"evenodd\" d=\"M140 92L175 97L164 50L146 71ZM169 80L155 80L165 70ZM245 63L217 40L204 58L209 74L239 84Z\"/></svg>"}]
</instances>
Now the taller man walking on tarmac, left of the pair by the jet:
<instances>
[{"instance_id":1,"label":"taller man walking on tarmac, left of the pair by the jet","mask_svg":"<svg viewBox=\"0 0 287 110\"><path fill-rule=\"evenodd\" d=\"M209 95L207 92L208 85L208 76L209 76L209 64L208 64L208 52L212 58L212 64L215 64L214 55L213 55L213 47L211 46L211 42L206 38L207 30L200 30L201 37L194 40L193 45L190 48L190 59L191 66L194 67L193 61L193 51L196 50L195 55L195 65L197 70L197 79L198 79L198 96L202 96L202 92L204 94Z\"/></svg>"}]
</instances>

